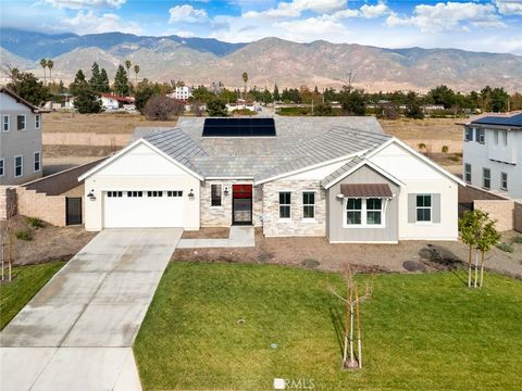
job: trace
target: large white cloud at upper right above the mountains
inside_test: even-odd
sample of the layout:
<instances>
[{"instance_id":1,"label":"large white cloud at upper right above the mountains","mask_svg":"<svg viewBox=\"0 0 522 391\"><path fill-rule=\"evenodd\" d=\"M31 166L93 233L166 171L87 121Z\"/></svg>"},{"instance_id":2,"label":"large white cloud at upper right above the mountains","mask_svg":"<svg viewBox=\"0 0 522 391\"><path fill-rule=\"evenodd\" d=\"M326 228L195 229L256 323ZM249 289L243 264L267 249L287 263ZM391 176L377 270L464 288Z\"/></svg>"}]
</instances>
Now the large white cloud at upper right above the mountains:
<instances>
[{"instance_id":1,"label":"large white cloud at upper right above the mountains","mask_svg":"<svg viewBox=\"0 0 522 391\"><path fill-rule=\"evenodd\" d=\"M388 26L415 26L422 33L439 33L463 28L463 24L485 26L495 23L504 26L493 4L474 2L439 2L435 5L419 4L413 9L413 16L399 16L393 12L386 20Z\"/></svg>"}]
</instances>

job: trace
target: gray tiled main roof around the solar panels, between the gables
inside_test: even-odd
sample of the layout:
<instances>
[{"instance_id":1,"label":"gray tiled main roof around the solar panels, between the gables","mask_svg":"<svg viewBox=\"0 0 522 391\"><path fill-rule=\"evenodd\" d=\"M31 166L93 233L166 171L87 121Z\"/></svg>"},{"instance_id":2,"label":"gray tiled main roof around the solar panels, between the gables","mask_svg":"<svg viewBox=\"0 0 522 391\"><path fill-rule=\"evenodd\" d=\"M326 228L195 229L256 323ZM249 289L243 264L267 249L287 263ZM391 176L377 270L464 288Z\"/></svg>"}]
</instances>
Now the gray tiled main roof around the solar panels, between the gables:
<instances>
[{"instance_id":1,"label":"gray tiled main roof around the solar panels, between the gables","mask_svg":"<svg viewBox=\"0 0 522 391\"><path fill-rule=\"evenodd\" d=\"M374 117L283 117L270 138L202 137L204 117L182 117L173 129L137 128L142 137L203 177L268 179L358 152L389 139Z\"/></svg>"}]
</instances>

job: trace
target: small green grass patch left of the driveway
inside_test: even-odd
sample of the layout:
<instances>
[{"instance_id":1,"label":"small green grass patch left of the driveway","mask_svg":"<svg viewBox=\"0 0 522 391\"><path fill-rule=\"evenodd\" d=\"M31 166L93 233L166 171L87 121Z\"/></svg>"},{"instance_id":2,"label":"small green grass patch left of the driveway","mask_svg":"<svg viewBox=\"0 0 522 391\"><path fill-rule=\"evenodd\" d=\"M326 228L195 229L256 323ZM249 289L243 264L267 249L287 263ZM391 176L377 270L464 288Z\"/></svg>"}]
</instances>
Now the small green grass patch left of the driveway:
<instances>
[{"instance_id":1,"label":"small green grass patch left of the driveway","mask_svg":"<svg viewBox=\"0 0 522 391\"><path fill-rule=\"evenodd\" d=\"M0 330L63 265L64 262L50 262L13 267L13 280L0 283Z\"/></svg>"}]
</instances>

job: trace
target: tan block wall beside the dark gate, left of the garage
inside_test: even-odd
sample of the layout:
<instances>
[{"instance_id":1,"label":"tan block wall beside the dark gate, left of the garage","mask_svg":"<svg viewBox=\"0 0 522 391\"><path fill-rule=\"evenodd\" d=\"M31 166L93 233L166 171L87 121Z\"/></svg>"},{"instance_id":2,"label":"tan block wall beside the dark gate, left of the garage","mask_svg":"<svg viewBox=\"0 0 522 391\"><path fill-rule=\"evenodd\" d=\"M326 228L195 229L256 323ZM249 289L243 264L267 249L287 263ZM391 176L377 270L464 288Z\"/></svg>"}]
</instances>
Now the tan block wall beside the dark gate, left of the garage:
<instances>
[{"instance_id":1,"label":"tan block wall beside the dark gate, left of the garage","mask_svg":"<svg viewBox=\"0 0 522 391\"><path fill-rule=\"evenodd\" d=\"M47 195L23 187L16 188L16 195L18 214L65 226L65 195Z\"/></svg>"}]
</instances>

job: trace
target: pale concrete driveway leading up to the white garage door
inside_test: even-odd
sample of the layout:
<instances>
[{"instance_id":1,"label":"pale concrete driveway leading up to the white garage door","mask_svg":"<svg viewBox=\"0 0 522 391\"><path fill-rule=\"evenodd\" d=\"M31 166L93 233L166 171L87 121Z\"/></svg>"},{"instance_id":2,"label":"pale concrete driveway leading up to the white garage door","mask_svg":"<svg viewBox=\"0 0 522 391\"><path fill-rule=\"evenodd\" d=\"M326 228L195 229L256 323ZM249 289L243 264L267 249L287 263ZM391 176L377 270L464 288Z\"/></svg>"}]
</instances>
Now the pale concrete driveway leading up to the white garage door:
<instances>
[{"instance_id":1,"label":"pale concrete driveway leading up to the white garage door","mask_svg":"<svg viewBox=\"0 0 522 391\"><path fill-rule=\"evenodd\" d=\"M139 390L130 348L182 232L97 235L0 333L0 389Z\"/></svg>"}]
</instances>

